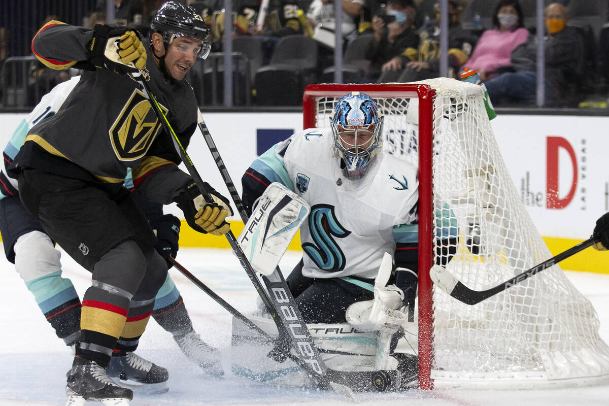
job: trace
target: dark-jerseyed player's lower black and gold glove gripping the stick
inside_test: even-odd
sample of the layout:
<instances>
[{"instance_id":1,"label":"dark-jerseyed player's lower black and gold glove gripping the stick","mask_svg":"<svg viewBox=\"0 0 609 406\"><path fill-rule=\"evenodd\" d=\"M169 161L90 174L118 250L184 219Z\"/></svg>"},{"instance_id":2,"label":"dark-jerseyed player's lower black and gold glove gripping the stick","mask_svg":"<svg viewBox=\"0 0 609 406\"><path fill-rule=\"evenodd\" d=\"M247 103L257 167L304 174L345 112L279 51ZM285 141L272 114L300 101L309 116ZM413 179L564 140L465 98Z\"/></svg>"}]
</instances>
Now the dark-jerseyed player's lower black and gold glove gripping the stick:
<instances>
[{"instance_id":1,"label":"dark-jerseyed player's lower black and gold glove gripping the stick","mask_svg":"<svg viewBox=\"0 0 609 406\"><path fill-rule=\"evenodd\" d=\"M214 190L205 182L205 187L213 198L213 203L207 203L199 193L199 188L194 181L186 182L180 195L174 200L178 208L184 212L184 217L189 226L199 233L209 233L221 236L228 233L230 224L225 221L229 215L233 215L233 209L228 199Z\"/></svg>"}]
</instances>

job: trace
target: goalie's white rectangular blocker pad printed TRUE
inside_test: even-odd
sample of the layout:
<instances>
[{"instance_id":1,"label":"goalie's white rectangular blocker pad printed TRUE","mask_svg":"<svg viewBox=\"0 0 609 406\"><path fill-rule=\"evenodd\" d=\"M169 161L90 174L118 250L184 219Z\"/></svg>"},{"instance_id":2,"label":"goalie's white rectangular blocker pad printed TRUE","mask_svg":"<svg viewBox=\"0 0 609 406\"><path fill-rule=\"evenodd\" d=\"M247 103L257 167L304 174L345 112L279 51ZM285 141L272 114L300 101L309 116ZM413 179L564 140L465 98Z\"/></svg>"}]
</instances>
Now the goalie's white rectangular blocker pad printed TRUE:
<instances>
[{"instance_id":1,"label":"goalie's white rectangular blocker pad printed TRUE","mask_svg":"<svg viewBox=\"0 0 609 406\"><path fill-rule=\"evenodd\" d=\"M309 204L283 184L267 187L238 238L256 271L273 273L310 211Z\"/></svg>"}]
</instances>

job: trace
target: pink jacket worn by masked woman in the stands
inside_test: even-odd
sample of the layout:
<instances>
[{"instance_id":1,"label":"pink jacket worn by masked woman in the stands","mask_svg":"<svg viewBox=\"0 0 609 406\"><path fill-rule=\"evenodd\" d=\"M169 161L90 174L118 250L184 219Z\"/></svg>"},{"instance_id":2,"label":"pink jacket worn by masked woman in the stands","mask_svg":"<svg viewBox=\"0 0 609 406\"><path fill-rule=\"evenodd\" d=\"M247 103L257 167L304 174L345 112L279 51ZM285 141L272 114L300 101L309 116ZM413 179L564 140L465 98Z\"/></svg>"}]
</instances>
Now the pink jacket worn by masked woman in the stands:
<instances>
[{"instance_id":1,"label":"pink jacket worn by masked woman in the stands","mask_svg":"<svg viewBox=\"0 0 609 406\"><path fill-rule=\"evenodd\" d=\"M478 40L473 54L464 66L470 69L484 70L487 79L496 75L500 66L511 66L510 54L516 46L527 40L529 31L519 28L514 31L501 32L499 30L486 30Z\"/></svg>"}]
</instances>

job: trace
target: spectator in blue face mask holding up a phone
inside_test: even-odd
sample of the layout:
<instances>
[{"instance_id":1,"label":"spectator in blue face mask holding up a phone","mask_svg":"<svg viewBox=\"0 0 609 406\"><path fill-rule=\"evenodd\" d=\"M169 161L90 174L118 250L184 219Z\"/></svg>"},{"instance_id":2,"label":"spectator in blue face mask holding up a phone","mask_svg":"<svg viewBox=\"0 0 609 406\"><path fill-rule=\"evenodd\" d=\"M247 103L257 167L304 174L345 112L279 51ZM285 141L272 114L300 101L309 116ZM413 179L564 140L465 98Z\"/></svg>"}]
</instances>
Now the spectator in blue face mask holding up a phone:
<instances>
[{"instance_id":1,"label":"spectator in blue face mask holding up a phone","mask_svg":"<svg viewBox=\"0 0 609 406\"><path fill-rule=\"evenodd\" d=\"M412 26L417 13L412 0L389 0L385 13L372 18L374 35L365 52L371 61L371 79L379 83L396 82L402 68L416 57L419 44ZM386 24L387 16L394 21Z\"/></svg>"}]
</instances>

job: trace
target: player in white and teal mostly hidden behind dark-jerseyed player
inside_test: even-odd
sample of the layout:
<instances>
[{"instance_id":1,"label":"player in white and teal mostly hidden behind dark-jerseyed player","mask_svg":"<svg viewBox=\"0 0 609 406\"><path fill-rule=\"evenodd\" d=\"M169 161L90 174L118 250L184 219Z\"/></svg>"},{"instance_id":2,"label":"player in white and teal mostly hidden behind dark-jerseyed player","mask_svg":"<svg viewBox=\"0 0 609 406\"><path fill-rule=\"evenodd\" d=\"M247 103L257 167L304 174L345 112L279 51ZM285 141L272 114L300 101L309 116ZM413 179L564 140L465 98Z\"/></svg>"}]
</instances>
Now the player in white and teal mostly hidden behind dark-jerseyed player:
<instances>
[{"instance_id":1,"label":"player in white and teal mostly hidden behind dark-jerseyed player","mask_svg":"<svg viewBox=\"0 0 609 406\"><path fill-rule=\"evenodd\" d=\"M5 167L12 163L27 131L34 124L53 116L79 80L80 77L76 76L55 86L19 123L4 149ZM133 188L130 176L125 180L125 186ZM136 203L143 209L157 235L155 248L166 260L170 255L175 257L180 220L172 214L163 214L162 205L147 201L135 193ZM44 232L40 222L33 219L23 207L19 200L17 180L5 170L0 170L0 233L7 259L15 264L15 270L34 295L44 318L58 338L68 346L74 345L80 334L79 296L72 281L62 278L60 253L54 248L54 242ZM172 266L169 261L167 265ZM188 359L209 374L222 374L219 353L206 345L194 331L180 292L169 275L155 298L152 317L163 329L171 332ZM108 371L112 377L121 377L121 384L129 380L137 382L134 387L141 390L157 392L168 388L166 369L146 362L132 352L124 356L119 352L113 354Z\"/></svg>"}]
</instances>

